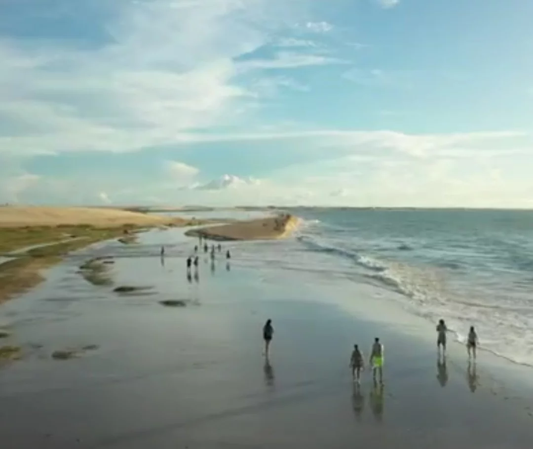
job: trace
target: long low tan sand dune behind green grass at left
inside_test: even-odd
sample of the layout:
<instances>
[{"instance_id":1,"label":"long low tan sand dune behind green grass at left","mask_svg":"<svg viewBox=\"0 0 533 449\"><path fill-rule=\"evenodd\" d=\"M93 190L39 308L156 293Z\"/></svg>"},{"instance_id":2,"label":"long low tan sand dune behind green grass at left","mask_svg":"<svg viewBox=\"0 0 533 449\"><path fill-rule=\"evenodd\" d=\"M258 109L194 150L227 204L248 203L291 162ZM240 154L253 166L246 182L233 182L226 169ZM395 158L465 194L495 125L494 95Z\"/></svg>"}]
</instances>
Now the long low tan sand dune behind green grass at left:
<instances>
[{"instance_id":1,"label":"long low tan sand dune behind green grass at left","mask_svg":"<svg viewBox=\"0 0 533 449\"><path fill-rule=\"evenodd\" d=\"M3 206L0 207L0 227L92 225L113 227L123 225L157 226L182 219L169 219L138 212L119 209L98 209L96 207L39 207Z\"/></svg>"}]
</instances>

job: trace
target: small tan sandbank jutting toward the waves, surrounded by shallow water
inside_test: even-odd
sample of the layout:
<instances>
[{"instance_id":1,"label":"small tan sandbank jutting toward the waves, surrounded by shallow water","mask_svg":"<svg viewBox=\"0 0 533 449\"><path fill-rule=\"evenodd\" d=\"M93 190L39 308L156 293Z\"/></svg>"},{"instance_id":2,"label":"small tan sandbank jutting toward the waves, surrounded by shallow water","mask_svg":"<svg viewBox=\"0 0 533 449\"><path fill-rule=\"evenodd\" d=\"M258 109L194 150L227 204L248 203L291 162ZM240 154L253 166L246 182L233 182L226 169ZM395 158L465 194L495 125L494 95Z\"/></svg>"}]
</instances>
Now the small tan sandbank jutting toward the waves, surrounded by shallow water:
<instances>
[{"instance_id":1,"label":"small tan sandbank jutting toward the waves, surrounded by shallow water","mask_svg":"<svg viewBox=\"0 0 533 449\"><path fill-rule=\"evenodd\" d=\"M294 231L299 219L293 215L279 215L222 226L191 229L185 235L213 240L263 240L282 238Z\"/></svg>"}]
</instances>

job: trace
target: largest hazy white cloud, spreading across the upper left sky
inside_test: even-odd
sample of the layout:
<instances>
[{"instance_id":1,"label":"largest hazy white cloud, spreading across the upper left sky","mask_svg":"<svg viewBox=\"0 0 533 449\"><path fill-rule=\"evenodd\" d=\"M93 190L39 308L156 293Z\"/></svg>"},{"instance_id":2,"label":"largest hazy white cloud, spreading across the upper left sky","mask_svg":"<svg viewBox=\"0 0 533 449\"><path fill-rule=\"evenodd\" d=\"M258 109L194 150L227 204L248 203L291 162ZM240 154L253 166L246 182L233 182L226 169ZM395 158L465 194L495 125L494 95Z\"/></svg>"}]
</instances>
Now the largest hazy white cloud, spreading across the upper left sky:
<instances>
[{"instance_id":1,"label":"largest hazy white cloud, spreading across the upper left sky","mask_svg":"<svg viewBox=\"0 0 533 449\"><path fill-rule=\"evenodd\" d=\"M240 123L257 100L237 84L243 67L235 59L271 43L298 11L282 0L113 7L112 21L100 24L111 40L100 47L0 40L0 154L131 151ZM327 62L282 54L265 65ZM261 63L248 67L255 68Z\"/></svg>"}]
</instances>

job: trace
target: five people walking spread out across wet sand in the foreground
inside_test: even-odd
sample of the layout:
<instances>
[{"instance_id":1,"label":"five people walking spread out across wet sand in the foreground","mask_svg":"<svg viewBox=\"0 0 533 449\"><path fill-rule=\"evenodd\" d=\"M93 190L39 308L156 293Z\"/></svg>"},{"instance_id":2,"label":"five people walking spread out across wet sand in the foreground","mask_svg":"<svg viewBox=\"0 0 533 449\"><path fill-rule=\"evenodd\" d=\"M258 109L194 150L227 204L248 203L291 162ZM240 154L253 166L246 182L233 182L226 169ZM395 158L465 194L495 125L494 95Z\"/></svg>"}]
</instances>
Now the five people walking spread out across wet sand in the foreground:
<instances>
[{"instance_id":1,"label":"five people walking spread out across wet sand in the foreground","mask_svg":"<svg viewBox=\"0 0 533 449\"><path fill-rule=\"evenodd\" d=\"M440 349L442 348L443 355L446 351L446 337L448 328L443 319L439 320L437 324L437 349L439 351L440 361ZM263 340L264 340L264 356L266 360L270 355L270 343L274 336L274 328L272 326L272 320L266 320L263 326ZM478 344L478 334L475 332L474 326L470 327L470 331L466 340L466 349L468 351L469 360L476 358L476 348ZM372 377L374 382L379 379L379 384L383 384L383 344L379 341L379 338L374 339L372 349L370 350L369 365L372 367ZM353 381L356 383L361 382L361 372L365 369L365 359L359 349L359 345L353 346L352 355L350 357L350 367L352 370Z\"/></svg>"}]
</instances>

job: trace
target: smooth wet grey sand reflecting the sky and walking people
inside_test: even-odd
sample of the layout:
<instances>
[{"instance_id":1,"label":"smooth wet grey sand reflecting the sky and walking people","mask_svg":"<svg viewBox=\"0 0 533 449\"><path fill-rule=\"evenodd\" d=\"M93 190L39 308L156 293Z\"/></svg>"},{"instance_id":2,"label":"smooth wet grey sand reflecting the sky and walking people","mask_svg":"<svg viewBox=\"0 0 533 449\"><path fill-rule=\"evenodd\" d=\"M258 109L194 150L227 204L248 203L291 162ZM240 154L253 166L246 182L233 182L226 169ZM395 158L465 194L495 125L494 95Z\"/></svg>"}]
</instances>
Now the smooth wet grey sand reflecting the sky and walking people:
<instances>
[{"instance_id":1,"label":"smooth wet grey sand reflecting the sky and walking people","mask_svg":"<svg viewBox=\"0 0 533 449\"><path fill-rule=\"evenodd\" d=\"M0 307L0 327L26 351L0 369L0 438L10 448L531 446L531 388L494 380L485 355L472 388L462 347L451 345L439 372L433 339L419 338L419 328L364 315L370 291L256 270L238 244L229 271L217 255L212 272L201 254L199 282L189 283L184 257L193 243L180 232L148 232L142 248L114 243L71 256L37 290ZM77 273L104 254L114 256L112 286ZM117 295L118 285L151 288ZM168 299L192 302L159 304ZM353 308L340 307L343 299ZM275 329L270 365L261 354L266 318ZM367 357L376 333L385 386L375 388L365 372L354 389L352 344ZM99 348L71 360L50 356L88 344Z\"/></svg>"}]
</instances>

